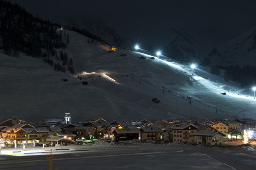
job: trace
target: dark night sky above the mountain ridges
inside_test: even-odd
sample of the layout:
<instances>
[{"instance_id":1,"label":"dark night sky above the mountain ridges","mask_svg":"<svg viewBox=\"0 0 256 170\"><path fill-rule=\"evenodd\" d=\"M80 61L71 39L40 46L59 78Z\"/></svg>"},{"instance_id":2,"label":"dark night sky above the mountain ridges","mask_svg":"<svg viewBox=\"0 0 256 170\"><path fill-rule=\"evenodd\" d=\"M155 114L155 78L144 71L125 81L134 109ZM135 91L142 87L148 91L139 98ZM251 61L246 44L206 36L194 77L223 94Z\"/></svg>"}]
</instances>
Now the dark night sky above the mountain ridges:
<instances>
[{"instance_id":1,"label":"dark night sky above the mountain ridges","mask_svg":"<svg viewBox=\"0 0 256 170\"><path fill-rule=\"evenodd\" d=\"M171 27L194 35L214 31L231 37L255 24L255 0L12 0L34 15L103 20L136 41L166 45ZM170 38L169 38L170 37Z\"/></svg>"}]
</instances>

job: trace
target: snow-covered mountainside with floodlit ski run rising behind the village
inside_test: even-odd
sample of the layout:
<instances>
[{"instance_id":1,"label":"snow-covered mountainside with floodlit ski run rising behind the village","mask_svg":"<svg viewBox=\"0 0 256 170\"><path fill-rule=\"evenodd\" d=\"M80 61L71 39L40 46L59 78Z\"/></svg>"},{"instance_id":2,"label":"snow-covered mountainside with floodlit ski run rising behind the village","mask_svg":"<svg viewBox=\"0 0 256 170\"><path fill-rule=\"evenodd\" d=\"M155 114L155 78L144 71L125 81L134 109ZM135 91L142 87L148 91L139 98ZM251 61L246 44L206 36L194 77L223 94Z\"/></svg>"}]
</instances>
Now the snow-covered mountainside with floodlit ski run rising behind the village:
<instances>
[{"instance_id":1,"label":"snow-covered mountainside with floodlit ski run rising behind the village","mask_svg":"<svg viewBox=\"0 0 256 170\"><path fill-rule=\"evenodd\" d=\"M246 93L238 95L242 89L199 68L192 76L189 66L169 62L166 57L151 59L150 55L120 48L108 53L100 44L88 44L87 37L68 33L68 57L73 58L88 85L82 85L68 71L54 71L42 59L0 54L0 119L62 118L67 110L77 121L99 117L234 119L243 115L256 119L256 101L250 91L249 97ZM62 82L63 78L68 82ZM161 103L152 102L153 98Z\"/></svg>"}]
</instances>

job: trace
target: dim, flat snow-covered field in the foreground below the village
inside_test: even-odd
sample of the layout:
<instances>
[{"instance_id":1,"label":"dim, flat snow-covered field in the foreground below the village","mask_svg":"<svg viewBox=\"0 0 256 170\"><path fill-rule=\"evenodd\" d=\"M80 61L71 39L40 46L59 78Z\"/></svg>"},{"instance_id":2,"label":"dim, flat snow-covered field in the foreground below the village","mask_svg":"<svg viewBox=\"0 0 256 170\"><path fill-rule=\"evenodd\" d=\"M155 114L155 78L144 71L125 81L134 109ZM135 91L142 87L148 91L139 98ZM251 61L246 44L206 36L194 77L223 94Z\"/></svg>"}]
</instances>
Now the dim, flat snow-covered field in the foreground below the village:
<instances>
[{"instance_id":1,"label":"dim, flat snow-covered field in the foreground below the village","mask_svg":"<svg viewBox=\"0 0 256 170\"><path fill-rule=\"evenodd\" d=\"M241 147L209 148L185 144L156 145L128 142L102 142L94 146L80 147L112 149L55 154L53 167L61 167L61 170L245 170L256 167L255 151L244 151ZM19 170L47 169L49 163L46 155L0 155L0 160L0 170L16 170L17 167Z\"/></svg>"}]
</instances>

